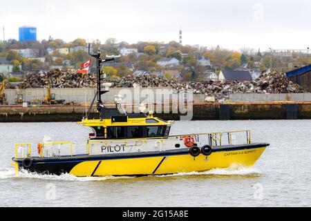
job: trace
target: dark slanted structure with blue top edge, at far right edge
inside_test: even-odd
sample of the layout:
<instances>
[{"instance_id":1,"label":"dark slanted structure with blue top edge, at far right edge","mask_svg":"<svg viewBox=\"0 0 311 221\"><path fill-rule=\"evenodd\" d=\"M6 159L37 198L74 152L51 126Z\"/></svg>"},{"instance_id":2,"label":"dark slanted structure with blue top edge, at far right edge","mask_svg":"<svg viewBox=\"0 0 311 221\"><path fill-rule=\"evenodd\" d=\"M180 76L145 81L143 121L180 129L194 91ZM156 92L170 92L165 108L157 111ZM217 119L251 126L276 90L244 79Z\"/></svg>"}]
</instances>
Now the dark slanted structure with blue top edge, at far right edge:
<instances>
[{"instance_id":1,"label":"dark slanted structure with blue top edge, at far right edge","mask_svg":"<svg viewBox=\"0 0 311 221\"><path fill-rule=\"evenodd\" d=\"M286 73L286 77L290 77L294 83L311 92L311 64L289 71Z\"/></svg>"}]
</instances>

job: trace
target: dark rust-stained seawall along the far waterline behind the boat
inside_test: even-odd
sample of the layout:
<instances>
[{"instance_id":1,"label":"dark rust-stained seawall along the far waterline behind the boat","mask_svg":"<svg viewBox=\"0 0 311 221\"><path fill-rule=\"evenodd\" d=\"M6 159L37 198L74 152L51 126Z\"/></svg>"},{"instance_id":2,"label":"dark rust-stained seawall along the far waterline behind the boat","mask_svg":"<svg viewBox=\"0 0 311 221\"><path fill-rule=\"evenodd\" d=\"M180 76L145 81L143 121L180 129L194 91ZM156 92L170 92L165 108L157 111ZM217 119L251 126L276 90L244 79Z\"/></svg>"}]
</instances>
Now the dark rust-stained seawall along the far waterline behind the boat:
<instances>
[{"instance_id":1,"label":"dark rust-stained seawall along the far waterline behind the boat","mask_svg":"<svg viewBox=\"0 0 311 221\"><path fill-rule=\"evenodd\" d=\"M170 113L155 116L179 120L180 113L172 113L169 108ZM77 122L85 112L85 106L1 106L0 122ZM98 118L95 108L88 118ZM192 119L311 119L311 102L194 104Z\"/></svg>"}]
</instances>

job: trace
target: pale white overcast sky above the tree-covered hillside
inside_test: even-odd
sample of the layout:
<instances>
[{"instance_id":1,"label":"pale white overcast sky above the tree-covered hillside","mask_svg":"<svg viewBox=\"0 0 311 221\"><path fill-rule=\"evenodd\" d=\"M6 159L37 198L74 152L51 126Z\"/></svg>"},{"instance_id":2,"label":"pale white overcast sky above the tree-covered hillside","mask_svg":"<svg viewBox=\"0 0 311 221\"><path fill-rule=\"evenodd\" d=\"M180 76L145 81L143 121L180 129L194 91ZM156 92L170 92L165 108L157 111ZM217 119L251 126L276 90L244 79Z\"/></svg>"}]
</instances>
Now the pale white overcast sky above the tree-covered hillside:
<instances>
[{"instance_id":1,"label":"pale white overcast sky above the tree-covered hillside","mask_svg":"<svg viewBox=\"0 0 311 221\"><path fill-rule=\"evenodd\" d=\"M310 0L15 0L1 4L0 26L6 39L18 39L18 28L30 25L39 40L129 43L178 41L181 27L183 44L305 49L311 47L310 9Z\"/></svg>"}]
</instances>

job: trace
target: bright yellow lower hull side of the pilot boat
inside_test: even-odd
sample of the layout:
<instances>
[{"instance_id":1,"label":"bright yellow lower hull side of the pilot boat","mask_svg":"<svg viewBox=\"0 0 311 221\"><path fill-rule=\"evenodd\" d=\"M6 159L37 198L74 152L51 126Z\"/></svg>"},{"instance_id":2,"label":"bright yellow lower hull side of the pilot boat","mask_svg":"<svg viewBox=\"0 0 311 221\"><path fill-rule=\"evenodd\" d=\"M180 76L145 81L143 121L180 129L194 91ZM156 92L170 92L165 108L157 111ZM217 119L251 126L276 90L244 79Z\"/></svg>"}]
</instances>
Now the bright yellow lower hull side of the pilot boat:
<instances>
[{"instance_id":1,"label":"bright yellow lower hull side of the pilot boat","mask_svg":"<svg viewBox=\"0 0 311 221\"><path fill-rule=\"evenodd\" d=\"M220 151L208 157L170 155L158 157L140 157L120 160L98 160L81 162L71 169L70 174L77 177L106 175L163 175L171 173L189 173L208 171L215 168L227 168L232 164L252 166L265 151L265 147L239 151Z\"/></svg>"}]
</instances>

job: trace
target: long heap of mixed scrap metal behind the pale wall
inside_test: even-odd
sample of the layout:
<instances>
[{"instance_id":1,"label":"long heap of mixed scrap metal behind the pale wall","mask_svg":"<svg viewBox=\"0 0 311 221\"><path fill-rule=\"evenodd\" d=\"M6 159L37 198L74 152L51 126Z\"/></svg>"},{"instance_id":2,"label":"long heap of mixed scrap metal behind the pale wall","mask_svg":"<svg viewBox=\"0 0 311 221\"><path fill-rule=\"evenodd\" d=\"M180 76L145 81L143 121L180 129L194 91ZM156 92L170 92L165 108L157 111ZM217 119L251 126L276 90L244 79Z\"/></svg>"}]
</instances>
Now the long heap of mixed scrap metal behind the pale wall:
<instances>
[{"instance_id":1,"label":"long heap of mixed scrap metal behind the pale wall","mask_svg":"<svg viewBox=\"0 0 311 221\"><path fill-rule=\"evenodd\" d=\"M165 77L143 75L139 77L120 77L107 79L114 88L131 88L136 85L142 87L170 87L178 91L186 88L193 89L196 94L213 96L216 100L227 99L232 93L305 93L298 84L294 84L283 73L274 70L267 71L254 81L244 82L178 82ZM96 75L77 74L76 70L53 69L48 73L28 74L18 88L46 88L50 82L51 88L95 88Z\"/></svg>"}]
</instances>

